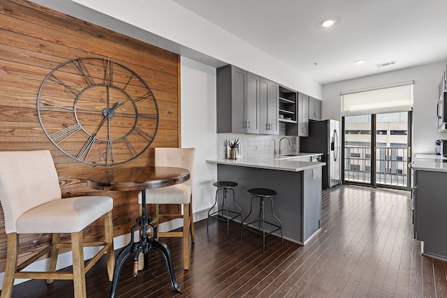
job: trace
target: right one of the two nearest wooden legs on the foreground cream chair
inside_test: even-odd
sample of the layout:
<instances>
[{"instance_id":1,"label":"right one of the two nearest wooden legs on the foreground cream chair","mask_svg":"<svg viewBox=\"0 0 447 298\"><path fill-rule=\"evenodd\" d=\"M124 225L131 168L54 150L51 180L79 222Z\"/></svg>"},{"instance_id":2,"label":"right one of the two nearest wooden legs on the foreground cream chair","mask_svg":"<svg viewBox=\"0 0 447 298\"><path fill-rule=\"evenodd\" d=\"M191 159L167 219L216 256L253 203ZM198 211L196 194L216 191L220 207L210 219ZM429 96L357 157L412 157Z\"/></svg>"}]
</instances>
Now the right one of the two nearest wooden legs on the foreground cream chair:
<instances>
[{"instance_id":1,"label":"right one of the two nearest wooden legs on the foreground cream chair","mask_svg":"<svg viewBox=\"0 0 447 298\"><path fill-rule=\"evenodd\" d=\"M71 233L71 250L73 254L73 288L75 298L87 298L85 289L84 251L82 248L82 231Z\"/></svg>"}]
</instances>

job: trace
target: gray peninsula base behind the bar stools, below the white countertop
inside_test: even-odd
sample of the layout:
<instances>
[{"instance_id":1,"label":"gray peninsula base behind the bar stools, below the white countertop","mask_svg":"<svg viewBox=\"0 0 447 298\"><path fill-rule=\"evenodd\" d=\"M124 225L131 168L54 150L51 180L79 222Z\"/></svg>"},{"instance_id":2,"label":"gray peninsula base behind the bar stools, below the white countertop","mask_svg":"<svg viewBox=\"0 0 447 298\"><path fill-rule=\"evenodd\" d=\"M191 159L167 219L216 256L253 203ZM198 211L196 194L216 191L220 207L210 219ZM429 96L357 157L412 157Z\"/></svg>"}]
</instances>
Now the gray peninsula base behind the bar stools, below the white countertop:
<instances>
[{"instance_id":1,"label":"gray peninsula base behind the bar stools, below the white countertop","mask_svg":"<svg viewBox=\"0 0 447 298\"><path fill-rule=\"evenodd\" d=\"M242 208L242 218L249 214L250 188L270 188L277 191L273 197L273 211L282 222L284 238L304 245L320 228L321 219L321 166L298 172L270 170L257 167L217 165L219 181L235 181L235 199ZM220 198L219 198L220 200ZM256 200L254 200L256 201ZM256 220L259 202L247 222ZM270 202L265 203L265 220L275 223ZM266 225L270 232L273 227ZM244 230L244 233L247 233ZM280 236L279 231L274 233Z\"/></svg>"}]
</instances>

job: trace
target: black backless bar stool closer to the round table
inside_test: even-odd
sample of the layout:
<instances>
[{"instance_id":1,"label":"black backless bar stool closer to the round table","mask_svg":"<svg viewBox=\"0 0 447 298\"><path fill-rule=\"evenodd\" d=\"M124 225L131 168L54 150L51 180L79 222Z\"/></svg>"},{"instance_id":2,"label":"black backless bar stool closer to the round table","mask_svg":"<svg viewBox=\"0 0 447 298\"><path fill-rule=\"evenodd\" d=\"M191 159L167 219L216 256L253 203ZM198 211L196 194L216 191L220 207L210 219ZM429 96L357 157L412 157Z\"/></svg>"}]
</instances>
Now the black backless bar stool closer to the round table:
<instances>
[{"instance_id":1,"label":"black backless bar stool closer to the round table","mask_svg":"<svg viewBox=\"0 0 447 298\"><path fill-rule=\"evenodd\" d=\"M240 207L236 204L235 190L233 189L233 187L237 186L237 183L233 182L233 181L217 181L217 182L214 182L212 185L217 187L216 201L214 202L214 205L212 205L211 209L208 210L207 230L208 230L208 219L210 219L210 217L212 217L212 218L219 219L219 221L226 221L226 234L228 235L230 221L233 221L235 218L237 218L237 216L240 216L241 223L242 223L242 209L240 209ZM239 209L239 212L228 210L228 200L226 199L228 190L233 191L233 202L234 202L235 206L237 207L237 209ZM210 214L210 212L212 211L214 206L217 205L217 195L218 195L219 191L222 192L222 208L213 212L212 214ZM226 218L223 217L223 211L226 212ZM221 212L221 215L219 215L219 212ZM230 216L228 216L228 213L235 214L235 216L233 218L230 218Z\"/></svg>"}]
</instances>

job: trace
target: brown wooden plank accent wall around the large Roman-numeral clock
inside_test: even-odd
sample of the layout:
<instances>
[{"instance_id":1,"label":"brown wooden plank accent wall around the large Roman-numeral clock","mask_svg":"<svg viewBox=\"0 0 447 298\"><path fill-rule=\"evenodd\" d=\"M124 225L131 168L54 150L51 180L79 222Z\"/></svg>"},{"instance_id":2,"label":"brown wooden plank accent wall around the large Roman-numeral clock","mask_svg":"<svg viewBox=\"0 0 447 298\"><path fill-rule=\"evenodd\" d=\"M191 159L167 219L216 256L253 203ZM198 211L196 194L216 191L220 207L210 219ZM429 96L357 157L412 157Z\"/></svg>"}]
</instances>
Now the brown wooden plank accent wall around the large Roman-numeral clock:
<instances>
[{"instance_id":1,"label":"brown wooden plank accent wall around the large Roman-numeral clock","mask_svg":"<svg viewBox=\"0 0 447 298\"><path fill-rule=\"evenodd\" d=\"M0 150L49 149L63 197L112 197L115 236L128 233L139 214L138 192L93 191L87 187L89 174L105 167L80 163L54 147L38 121L38 90L53 68L78 57L103 57L134 70L154 93L159 106L159 131L145 154L121 167L152 165L154 147L179 147L179 56L21 0L0 0L0 53ZM101 238L102 223L89 226L85 235ZM21 257L49 239L47 234L20 237ZM6 234L0 209L0 271L4 271L5 260Z\"/></svg>"}]
</instances>

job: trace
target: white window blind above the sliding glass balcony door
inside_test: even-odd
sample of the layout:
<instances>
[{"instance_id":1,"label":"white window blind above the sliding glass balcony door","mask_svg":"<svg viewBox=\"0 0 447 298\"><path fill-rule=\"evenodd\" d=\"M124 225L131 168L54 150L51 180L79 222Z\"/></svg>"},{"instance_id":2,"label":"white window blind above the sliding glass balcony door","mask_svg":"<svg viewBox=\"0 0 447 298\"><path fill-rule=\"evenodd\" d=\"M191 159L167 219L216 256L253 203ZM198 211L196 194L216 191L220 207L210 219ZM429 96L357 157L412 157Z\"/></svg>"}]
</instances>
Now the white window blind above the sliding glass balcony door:
<instances>
[{"instance_id":1,"label":"white window blind above the sliding glass balcony door","mask_svg":"<svg viewBox=\"0 0 447 298\"><path fill-rule=\"evenodd\" d=\"M413 108L413 81L341 93L342 116L407 112Z\"/></svg>"}]
</instances>

